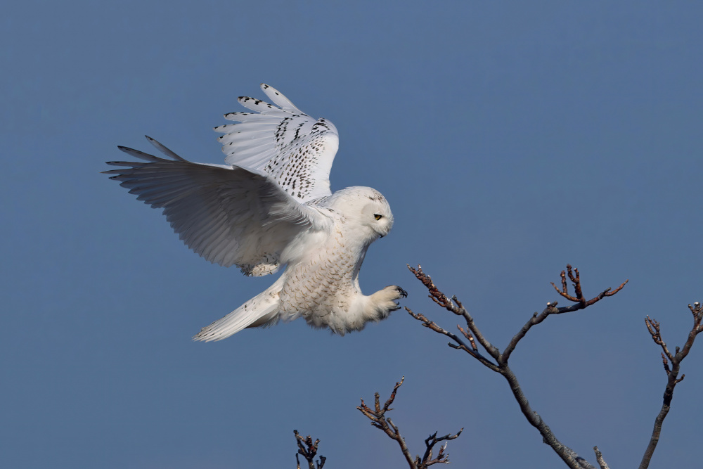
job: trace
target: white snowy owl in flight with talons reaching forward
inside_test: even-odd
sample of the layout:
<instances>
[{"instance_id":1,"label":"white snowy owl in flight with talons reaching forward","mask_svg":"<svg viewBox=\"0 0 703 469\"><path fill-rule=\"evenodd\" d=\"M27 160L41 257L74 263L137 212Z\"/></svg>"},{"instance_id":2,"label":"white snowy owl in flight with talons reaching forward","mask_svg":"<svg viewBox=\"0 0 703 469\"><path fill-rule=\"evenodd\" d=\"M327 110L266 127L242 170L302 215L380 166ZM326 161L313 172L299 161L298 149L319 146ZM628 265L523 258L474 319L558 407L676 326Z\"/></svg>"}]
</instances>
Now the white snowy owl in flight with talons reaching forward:
<instances>
[{"instance_id":1,"label":"white snowy owl in flight with talons reaching forward","mask_svg":"<svg viewBox=\"0 0 703 469\"><path fill-rule=\"evenodd\" d=\"M386 199L359 186L331 193L336 127L271 86L261 88L275 105L241 97L253 112L226 114L236 123L215 127L224 134L218 140L226 165L184 160L147 137L168 158L120 146L143 161L108 162L121 168L105 171L137 200L163 209L181 240L209 262L236 265L247 276L286 266L271 287L193 339L221 340L301 316L340 335L385 319L407 293L390 285L363 295L359 269L368 246L393 226Z\"/></svg>"}]
</instances>

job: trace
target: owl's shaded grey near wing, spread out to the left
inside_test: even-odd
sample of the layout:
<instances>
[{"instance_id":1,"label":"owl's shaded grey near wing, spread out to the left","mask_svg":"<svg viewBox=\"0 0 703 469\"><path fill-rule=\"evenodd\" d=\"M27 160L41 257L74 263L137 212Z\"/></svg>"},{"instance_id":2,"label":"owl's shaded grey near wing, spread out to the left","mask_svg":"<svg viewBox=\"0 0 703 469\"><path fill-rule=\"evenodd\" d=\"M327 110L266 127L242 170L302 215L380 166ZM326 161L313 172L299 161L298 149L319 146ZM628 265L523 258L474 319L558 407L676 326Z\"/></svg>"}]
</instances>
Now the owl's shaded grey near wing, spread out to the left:
<instances>
[{"instance_id":1,"label":"owl's shaded grey near wing, spread out to the left","mask_svg":"<svg viewBox=\"0 0 703 469\"><path fill-rule=\"evenodd\" d=\"M293 237L329 223L264 172L190 162L147 139L172 159L119 147L146 162L108 162L122 168L105 173L115 174L110 179L121 181L138 200L162 208L186 245L210 262L237 265L247 275L273 274Z\"/></svg>"}]
</instances>

